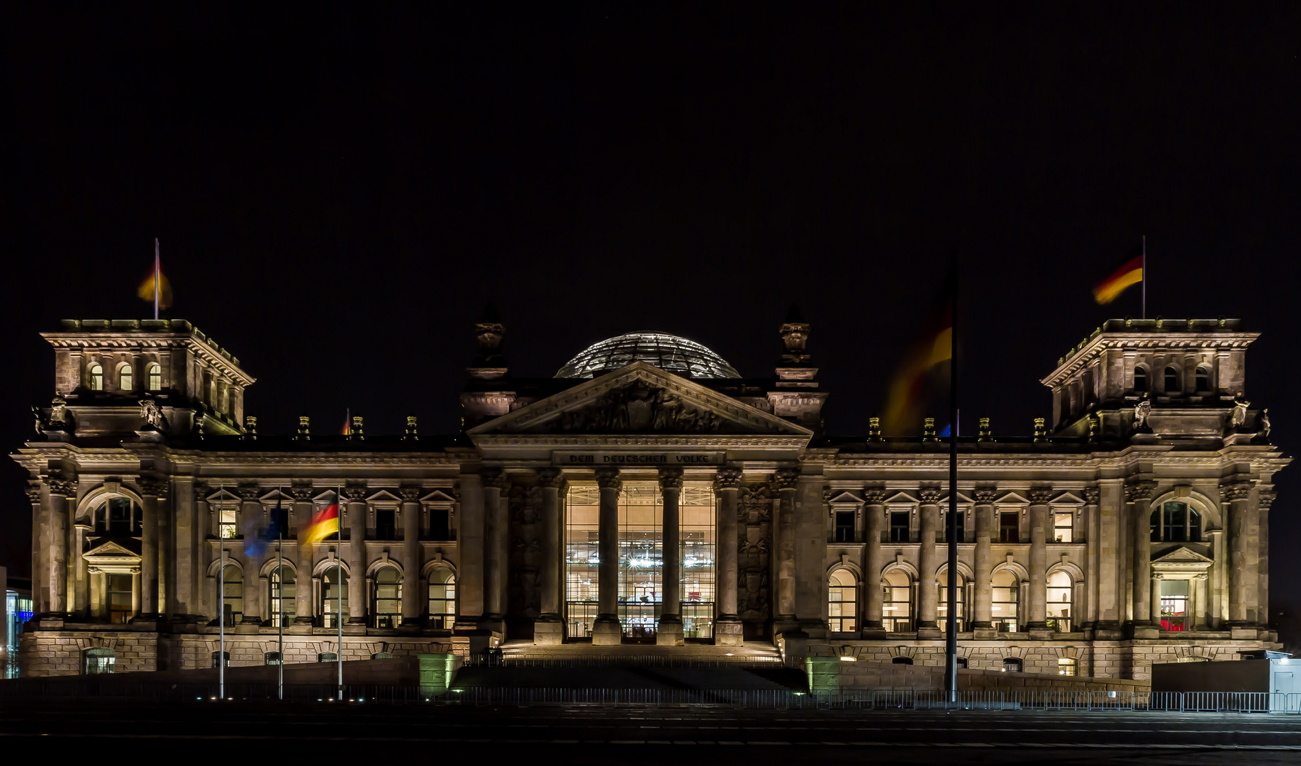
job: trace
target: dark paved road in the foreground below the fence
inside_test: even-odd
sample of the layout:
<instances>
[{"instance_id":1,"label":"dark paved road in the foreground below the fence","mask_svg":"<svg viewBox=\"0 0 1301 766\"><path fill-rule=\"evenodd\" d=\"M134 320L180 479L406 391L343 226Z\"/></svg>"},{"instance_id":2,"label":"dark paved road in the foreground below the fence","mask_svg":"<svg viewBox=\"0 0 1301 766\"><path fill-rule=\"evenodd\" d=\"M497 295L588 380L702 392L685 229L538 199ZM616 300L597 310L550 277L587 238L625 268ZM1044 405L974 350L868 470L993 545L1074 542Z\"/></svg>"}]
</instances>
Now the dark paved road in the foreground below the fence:
<instances>
[{"instance_id":1,"label":"dark paved road in the foreground below the fence","mask_svg":"<svg viewBox=\"0 0 1301 766\"><path fill-rule=\"evenodd\" d=\"M0 705L9 752L241 753L329 763L415 757L656 763L1298 763L1301 715L740 711L660 707L36 702ZM248 748L254 748L250 750ZM600 758L601 761L593 761Z\"/></svg>"}]
</instances>

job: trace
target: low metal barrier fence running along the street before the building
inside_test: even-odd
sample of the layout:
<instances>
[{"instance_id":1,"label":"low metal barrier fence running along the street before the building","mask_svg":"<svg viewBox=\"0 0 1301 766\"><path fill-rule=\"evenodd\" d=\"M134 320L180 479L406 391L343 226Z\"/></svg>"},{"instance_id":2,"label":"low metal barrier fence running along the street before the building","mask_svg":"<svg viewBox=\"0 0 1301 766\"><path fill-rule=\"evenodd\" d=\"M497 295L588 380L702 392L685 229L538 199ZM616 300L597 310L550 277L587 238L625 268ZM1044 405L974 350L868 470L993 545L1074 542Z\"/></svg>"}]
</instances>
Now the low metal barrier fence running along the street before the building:
<instances>
[{"instance_id":1,"label":"low metal barrier fence running along the street before the building","mask_svg":"<svg viewBox=\"0 0 1301 766\"><path fill-rule=\"evenodd\" d=\"M226 684L228 701L276 701L276 684ZM0 683L0 700L79 698L211 704L216 684L159 684L96 678L21 679ZM445 692L419 687L286 684L286 702L419 704L500 707L530 705L661 706L693 705L756 710L1119 710L1167 713L1301 714L1301 693L1265 692L959 692L956 702L937 691L796 692L791 689L595 689L453 687Z\"/></svg>"}]
</instances>

